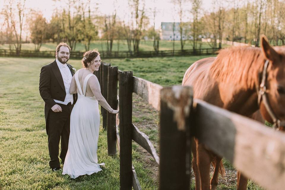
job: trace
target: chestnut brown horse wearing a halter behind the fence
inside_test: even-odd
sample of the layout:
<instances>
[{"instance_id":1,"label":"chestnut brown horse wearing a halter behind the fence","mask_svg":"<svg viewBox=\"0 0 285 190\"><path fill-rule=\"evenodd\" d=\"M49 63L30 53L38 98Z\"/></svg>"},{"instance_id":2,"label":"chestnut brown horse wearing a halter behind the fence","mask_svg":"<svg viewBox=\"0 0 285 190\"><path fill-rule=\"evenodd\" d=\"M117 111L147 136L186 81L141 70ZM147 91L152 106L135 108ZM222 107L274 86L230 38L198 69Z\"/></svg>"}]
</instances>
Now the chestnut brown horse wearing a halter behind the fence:
<instances>
[{"instance_id":1,"label":"chestnut brown horse wearing a halter behind the fence","mask_svg":"<svg viewBox=\"0 0 285 190\"><path fill-rule=\"evenodd\" d=\"M232 47L220 50L216 58L196 61L182 85L192 86L196 99L248 117L260 110L263 118L280 126L285 119L285 47L271 47L265 36L261 39L261 48ZM221 158L194 140L196 190L216 189ZM210 181L211 162L215 169ZM238 189L246 189L247 180L238 172Z\"/></svg>"}]
</instances>

